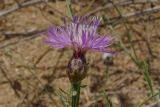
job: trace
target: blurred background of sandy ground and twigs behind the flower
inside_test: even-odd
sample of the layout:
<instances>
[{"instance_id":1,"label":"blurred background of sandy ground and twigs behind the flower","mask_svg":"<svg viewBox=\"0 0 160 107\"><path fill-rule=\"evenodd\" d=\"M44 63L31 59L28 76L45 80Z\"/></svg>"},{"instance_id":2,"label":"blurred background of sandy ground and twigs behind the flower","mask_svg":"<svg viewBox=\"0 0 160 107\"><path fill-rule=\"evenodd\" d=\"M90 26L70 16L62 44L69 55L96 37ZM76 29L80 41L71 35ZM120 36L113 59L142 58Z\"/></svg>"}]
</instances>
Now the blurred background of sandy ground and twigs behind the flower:
<instances>
[{"instance_id":1,"label":"blurred background of sandy ground and twigs behind the flower","mask_svg":"<svg viewBox=\"0 0 160 107\"><path fill-rule=\"evenodd\" d=\"M71 5L70 5L71 3ZM44 44L47 28L74 15L98 16L115 55L87 53L80 107L136 107L160 89L159 0L0 0L0 107L63 107L69 49ZM144 107L158 106L159 96ZM140 106L138 106L140 107Z\"/></svg>"}]
</instances>

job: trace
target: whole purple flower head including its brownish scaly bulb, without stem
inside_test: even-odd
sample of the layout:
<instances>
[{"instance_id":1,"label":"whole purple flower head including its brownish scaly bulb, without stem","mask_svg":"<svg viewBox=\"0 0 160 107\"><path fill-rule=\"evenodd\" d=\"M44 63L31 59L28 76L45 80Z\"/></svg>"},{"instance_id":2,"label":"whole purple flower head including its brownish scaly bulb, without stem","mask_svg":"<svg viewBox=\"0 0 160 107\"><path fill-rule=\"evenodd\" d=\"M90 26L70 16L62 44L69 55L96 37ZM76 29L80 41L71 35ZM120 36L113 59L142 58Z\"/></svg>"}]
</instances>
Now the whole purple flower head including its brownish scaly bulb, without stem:
<instances>
[{"instance_id":1,"label":"whole purple flower head including its brownish scaly bulb, without stem","mask_svg":"<svg viewBox=\"0 0 160 107\"><path fill-rule=\"evenodd\" d=\"M87 23L86 17L81 19L74 17L69 23L64 20L64 26L50 27L46 43L55 48L71 48L73 56L68 64L68 75L71 81L80 81L86 74L87 51L97 51L110 53L106 48L111 45L112 37L100 36L96 31L100 24L100 19L93 17ZM83 73L84 72L84 73Z\"/></svg>"}]
</instances>

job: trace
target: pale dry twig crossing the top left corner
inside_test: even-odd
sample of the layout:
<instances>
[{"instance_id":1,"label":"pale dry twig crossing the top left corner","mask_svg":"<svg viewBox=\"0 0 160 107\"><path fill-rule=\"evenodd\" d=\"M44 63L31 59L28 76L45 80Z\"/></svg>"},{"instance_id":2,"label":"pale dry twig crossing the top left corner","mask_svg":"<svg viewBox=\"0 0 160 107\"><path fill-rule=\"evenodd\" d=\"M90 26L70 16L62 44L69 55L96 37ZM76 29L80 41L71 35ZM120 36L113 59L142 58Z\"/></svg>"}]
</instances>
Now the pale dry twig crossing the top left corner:
<instances>
[{"instance_id":1,"label":"pale dry twig crossing the top left corner","mask_svg":"<svg viewBox=\"0 0 160 107\"><path fill-rule=\"evenodd\" d=\"M0 17L5 16L9 13L12 13L12 12L18 10L18 9L28 7L28 6L31 6L31 5L34 5L34 4L42 3L42 2L44 2L44 0L30 0L30 1L27 1L27 2L24 2L24 3L21 3L21 4L16 3L16 4L14 4L13 6L7 8L7 9L1 10L0 11Z\"/></svg>"}]
</instances>

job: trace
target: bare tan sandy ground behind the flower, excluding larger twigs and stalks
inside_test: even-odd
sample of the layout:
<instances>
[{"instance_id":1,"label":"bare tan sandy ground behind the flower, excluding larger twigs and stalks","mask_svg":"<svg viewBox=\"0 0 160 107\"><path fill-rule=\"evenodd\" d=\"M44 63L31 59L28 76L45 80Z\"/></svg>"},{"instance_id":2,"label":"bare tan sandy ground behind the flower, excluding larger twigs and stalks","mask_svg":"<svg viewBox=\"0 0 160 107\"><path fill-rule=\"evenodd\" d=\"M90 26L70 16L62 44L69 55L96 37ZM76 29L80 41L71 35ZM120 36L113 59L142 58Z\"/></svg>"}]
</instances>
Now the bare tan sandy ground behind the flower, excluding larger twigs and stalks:
<instances>
[{"instance_id":1,"label":"bare tan sandy ground behind the flower, excluding larger twigs and stalks","mask_svg":"<svg viewBox=\"0 0 160 107\"><path fill-rule=\"evenodd\" d=\"M6 0L1 9L13 3L12 0ZM81 1L73 5L78 14L85 13L85 3L87 4ZM93 4L96 7L101 2ZM120 10L126 14L148 7L149 5L129 5L120 7ZM57 1L29 6L0 17L0 107L62 107L60 89L69 91L70 88L65 69L72 51L53 49L44 44L46 33L28 36L23 34L62 24L61 18L67 15L66 10L65 1ZM115 9L96 13L98 16L110 17L117 14ZM147 59L153 88L158 90L160 21L150 21L148 17L159 17L159 13L129 19L131 22L127 26L132 42L127 38L123 23L118 24L114 32L104 26L99 31L101 34L113 35L116 41L118 38L122 39L129 53L134 55L131 48L133 46L138 59ZM9 33L9 37L4 35ZM19 36L16 36L17 33L20 33ZM90 67L88 76L82 82L87 86L82 88L80 107L108 107L102 93L104 90L115 107L135 107L150 95L142 69L137 67L123 49L116 46L112 48L117 54L113 56L113 64L109 66L103 63L101 53L87 53ZM146 104L152 102L154 101Z\"/></svg>"}]
</instances>

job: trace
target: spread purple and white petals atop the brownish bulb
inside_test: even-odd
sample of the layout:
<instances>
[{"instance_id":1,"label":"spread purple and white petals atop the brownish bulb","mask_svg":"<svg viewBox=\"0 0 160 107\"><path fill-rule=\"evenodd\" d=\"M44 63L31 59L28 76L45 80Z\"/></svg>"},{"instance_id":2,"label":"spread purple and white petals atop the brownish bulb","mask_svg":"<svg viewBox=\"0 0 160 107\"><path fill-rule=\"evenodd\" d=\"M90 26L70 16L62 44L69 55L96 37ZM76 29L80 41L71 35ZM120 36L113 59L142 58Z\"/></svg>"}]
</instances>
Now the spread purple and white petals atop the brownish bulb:
<instances>
[{"instance_id":1,"label":"spread purple and white petals atop the brownish bulb","mask_svg":"<svg viewBox=\"0 0 160 107\"><path fill-rule=\"evenodd\" d=\"M84 55L87 51L110 53L106 48L111 45L112 37L100 36L96 31L100 24L97 17L93 17L87 24L86 17L77 16L63 27L50 27L46 43L55 48L72 48L74 55Z\"/></svg>"}]
</instances>

